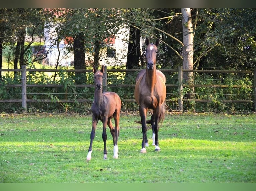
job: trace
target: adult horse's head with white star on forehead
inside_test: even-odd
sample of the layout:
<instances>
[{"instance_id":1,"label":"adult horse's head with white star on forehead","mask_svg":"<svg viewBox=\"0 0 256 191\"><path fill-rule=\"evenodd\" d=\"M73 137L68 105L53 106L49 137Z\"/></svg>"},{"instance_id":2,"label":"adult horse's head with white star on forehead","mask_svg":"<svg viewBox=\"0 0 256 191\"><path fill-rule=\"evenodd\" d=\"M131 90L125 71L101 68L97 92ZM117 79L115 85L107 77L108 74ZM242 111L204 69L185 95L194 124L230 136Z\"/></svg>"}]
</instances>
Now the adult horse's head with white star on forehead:
<instances>
[{"instance_id":1,"label":"adult horse's head with white star on forehead","mask_svg":"<svg viewBox=\"0 0 256 191\"><path fill-rule=\"evenodd\" d=\"M152 70L156 63L156 53L157 53L157 46L159 45L160 40L156 39L155 44L150 43L149 39L146 38L146 63L147 69Z\"/></svg>"}]
</instances>

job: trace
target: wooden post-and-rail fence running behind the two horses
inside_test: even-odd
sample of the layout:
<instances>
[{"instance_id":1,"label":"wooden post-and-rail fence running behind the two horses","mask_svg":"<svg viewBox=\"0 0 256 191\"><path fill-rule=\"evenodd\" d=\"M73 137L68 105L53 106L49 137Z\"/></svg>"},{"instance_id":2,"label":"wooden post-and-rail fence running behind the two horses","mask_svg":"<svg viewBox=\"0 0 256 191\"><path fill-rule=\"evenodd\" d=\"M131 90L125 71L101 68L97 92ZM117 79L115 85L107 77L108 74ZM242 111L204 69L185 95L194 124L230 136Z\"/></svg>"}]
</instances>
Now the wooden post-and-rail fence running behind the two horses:
<instances>
[{"instance_id":1,"label":"wooden post-and-rail fence running behind the two horses","mask_svg":"<svg viewBox=\"0 0 256 191\"><path fill-rule=\"evenodd\" d=\"M21 72L21 84L15 84L15 85L5 85L6 87L21 87L21 99L0 99L0 102L21 102L22 103L22 111L26 112L27 110L27 102L52 102L51 99L27 99L27 93L26 88L27 87L64 87L64 85L54 85L54 84L27 84L26 83L26 72L60 72L58 69L26 69L25 66L22 66L21 69L0 69L0 71L3 72ZM91 72L91 70L62 70L63 72ZM119 84L119 85L111 85L107 84L107 72L138 72L138 69L109 69L107 70L107 67L105 67L105 73L104 73L104 81L103 81L103 91L107 89L107 87L111 86L119 86L119 87L134 87L134 84ZM246 73L254 74L254 82L253 86L248 86L250 88L254 89L254 100L221 100L221 102L233 102L233 103L254 103L254 111L256 111L256 68L254 68L253 71L249 70L185 70L182 69L182 67L178 67L178 69L163 69L162 72L178 72L178 83L177 84L166 84L166 87L177 87L179 96L178 96L178 109L179 111L183 111L183 102L212 102L211 99L184 99L182 95L183 87L220 87L220 88L241 88L241 85L219 85L219 84L192 84L192 85L186 85L182 84L183 72L198 72L198 73ZM82 85L75 85L76 87L93 87L94 85L89 84L82 84ZM70 99L61 99L58 100L59 102L92 102L91 99L76 99L76 100L70 100ZM135 102L135 99L123 99L123 102ZM166 101L173 101L171 99L166 99Z\"/></svg>"}]
</instances>

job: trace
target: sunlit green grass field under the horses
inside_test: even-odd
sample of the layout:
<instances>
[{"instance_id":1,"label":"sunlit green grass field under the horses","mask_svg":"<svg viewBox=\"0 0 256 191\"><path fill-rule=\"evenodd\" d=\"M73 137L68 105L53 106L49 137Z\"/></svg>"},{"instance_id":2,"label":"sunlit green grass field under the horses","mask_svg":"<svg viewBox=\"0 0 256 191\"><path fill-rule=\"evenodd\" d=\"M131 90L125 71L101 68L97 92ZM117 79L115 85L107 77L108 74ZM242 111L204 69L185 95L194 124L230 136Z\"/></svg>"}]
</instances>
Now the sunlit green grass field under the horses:
<instances>
[{"instance_id":1,"label":"sunlit green grass field under the horses","mask_svg":"<svg viewBox=\"0 0 256 191\"><path fill-rule=\"evenodd\" d=\"M103 160L99 122L91 161L91 116L0 115L1 183L255 183L255 114L166 114L160 152L141 154L139 114L122 114L119 158L107 130Z\"/></svg>"}]
</instances>

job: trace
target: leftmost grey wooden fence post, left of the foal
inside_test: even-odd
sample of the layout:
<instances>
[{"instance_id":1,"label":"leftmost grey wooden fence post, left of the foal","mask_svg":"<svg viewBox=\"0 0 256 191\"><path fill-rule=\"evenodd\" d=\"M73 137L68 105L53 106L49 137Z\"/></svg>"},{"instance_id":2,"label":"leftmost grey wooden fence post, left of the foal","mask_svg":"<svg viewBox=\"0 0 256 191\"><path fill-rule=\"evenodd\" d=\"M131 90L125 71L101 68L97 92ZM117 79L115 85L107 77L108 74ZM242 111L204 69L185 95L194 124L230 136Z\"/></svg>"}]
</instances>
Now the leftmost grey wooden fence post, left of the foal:
<instances>
[{"instance_id":1,"label":"leftmost grey wooden fence post, left of the foal","mask_svg":"<svg viewBox=\"0 0 256 191\"><path fill-rule=\"evenodd\" d=\"M21 110L22 113L27 112L27 74L26 74L26 65L21 66Z\"/></svg>"}]
</instances>

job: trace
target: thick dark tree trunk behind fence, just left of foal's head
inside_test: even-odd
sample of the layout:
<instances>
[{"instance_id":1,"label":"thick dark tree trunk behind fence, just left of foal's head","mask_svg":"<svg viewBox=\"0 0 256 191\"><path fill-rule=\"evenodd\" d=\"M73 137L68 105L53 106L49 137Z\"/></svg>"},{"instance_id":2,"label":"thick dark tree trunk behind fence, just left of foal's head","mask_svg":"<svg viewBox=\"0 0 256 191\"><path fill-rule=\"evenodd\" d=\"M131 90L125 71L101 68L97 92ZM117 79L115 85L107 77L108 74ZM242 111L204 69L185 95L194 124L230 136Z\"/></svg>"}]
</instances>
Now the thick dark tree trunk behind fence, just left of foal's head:
<instances>
[{"instance_id":1,"label":"thick dark tree trunk behind fence, just left of foal's head","mask_svg":"<svg viewBox=\"0 0 256 191\"><path fill-rule=\"evenodd\" d=\"M85 69L85 46L83 33L80 33L74 38L74 69ZM86 74L81 72L75 72L76 84L86 83Z\"/></svg>"}]
</instances>

